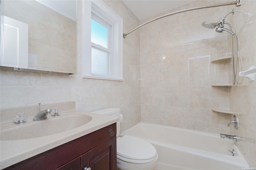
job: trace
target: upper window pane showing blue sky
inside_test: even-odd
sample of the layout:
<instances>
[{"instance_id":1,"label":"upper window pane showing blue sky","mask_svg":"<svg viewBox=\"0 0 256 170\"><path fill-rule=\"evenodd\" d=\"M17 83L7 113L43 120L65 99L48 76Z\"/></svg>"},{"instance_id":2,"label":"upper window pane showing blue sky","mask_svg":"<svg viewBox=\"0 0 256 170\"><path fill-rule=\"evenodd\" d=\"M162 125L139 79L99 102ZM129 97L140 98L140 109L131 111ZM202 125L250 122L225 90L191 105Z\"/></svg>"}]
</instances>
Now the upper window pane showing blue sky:
<instances>
[{"instance_id":1,"label":"upper window pane showing blue sky","mask_svg":"<svg viewBox=\"0 0 256 170\"><path fill-rule=\"evenodd\" d=\"M108 28L91 19L91 41L108 48Z\"/></svg>"}]
</instances>

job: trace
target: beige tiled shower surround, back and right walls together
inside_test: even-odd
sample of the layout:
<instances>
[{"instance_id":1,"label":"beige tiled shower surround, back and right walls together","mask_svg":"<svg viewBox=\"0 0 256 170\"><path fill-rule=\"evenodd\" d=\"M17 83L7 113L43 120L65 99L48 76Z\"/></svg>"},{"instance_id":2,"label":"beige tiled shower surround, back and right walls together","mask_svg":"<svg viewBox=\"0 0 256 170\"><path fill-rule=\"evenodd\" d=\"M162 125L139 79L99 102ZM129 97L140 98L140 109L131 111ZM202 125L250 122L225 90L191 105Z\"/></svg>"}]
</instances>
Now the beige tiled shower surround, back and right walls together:
<instances>
[{"instance_id":1,"label":"beige tiled shower surround, back and right walls together","mask_svg":"<svg viewBox=\"0 0 256 170\"><path fill-rule=\"evenodd\" d=\"M223 2L195 1L163 14ZM142 122L256 139L256 83L238 77L238 85L211 87L232 83L231 60L210 62L231 55L230 35L201 26L204 21L218 22L233 8L244 12L226 18L240 43L237 72L242 71L240 55L244 71L256 66L255 6L255 1L244 0L240 7L185 12L140 29ZM217 113L211 108L234 111L240 119L239 129L226 126L232 114ZM250 167L256 167L256 144L239 141L236 145Z\"/></svg>"}]
</instances>

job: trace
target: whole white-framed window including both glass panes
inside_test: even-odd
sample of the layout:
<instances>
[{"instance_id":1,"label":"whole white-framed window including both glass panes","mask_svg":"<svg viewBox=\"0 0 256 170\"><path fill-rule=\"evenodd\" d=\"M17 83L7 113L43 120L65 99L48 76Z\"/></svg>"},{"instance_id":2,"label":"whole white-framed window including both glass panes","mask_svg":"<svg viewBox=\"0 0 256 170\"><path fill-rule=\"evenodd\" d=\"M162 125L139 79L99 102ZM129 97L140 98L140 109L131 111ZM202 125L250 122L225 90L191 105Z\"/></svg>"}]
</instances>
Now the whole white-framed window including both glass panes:
<instances>
[{"instance_id":1,"label":"whole white-framed window including both glass panes","mask_svg":"<svg viewBox=\"0 0 256 170\"><path fill-rule=\"evenodd\" d=\"M83 77L122 81L122 18L102 1L83 6Z\"/></svg>"}]
</instances>

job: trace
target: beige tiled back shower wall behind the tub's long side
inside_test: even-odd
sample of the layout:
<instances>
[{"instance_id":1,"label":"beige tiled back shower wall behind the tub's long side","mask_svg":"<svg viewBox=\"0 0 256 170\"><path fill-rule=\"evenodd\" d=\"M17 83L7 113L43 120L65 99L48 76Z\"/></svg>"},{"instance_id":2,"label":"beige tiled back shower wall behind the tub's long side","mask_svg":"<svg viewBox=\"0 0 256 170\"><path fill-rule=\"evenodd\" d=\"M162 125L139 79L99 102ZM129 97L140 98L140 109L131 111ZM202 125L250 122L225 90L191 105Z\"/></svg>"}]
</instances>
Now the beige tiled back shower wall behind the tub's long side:
<instances>
[{"instance_id":1,"label":"beige tiled back shower wall behind the tub's long side","mask_svg":"<svg viewBox=\"0 0 256 170\"><path fill-rule=\"evenodd\" d=\"M222 3L194 1L170 12ZM162 18L140 29L141 121L213 133L229 133L230 115L212 111L229 107L228 96L214 102L211 84L216 76L213 57L228 53L228 34L204 28L204 21L218 22L227 7L184 12ZM146 22L152 18L146 18ZM228 71L227 65L218 69ZM212 79L211 79L212 77ZM218 76L220 77L220 76ZM228 82L228 74L221 80ZM223 106L220 106L223 105Z\"/></svg>"}]
</instances>

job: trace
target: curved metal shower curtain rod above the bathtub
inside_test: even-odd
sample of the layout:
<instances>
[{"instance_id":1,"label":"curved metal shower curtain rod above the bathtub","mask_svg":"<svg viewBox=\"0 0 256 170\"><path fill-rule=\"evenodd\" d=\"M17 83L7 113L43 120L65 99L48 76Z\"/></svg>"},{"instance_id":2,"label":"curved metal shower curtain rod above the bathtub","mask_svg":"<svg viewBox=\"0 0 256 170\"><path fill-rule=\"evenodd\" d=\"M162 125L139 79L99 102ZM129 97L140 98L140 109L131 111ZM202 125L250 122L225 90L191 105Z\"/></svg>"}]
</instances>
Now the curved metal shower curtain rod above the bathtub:
<instances>
[{"instance_id":1,"label":"curved metal shower curtain rod above the bathtub","mask_svg":"<svg viewBox=\"0 0 256 170\"><path fill-rule=\"evenodd\" d=\"M156 21L156 20L159 20L161 18L164 18L166 16L171 16L171 15L174 15L174 14L179 14L179 13L182 13L182 12L187 12L187 11L192 11L192 10L199 10L199 9L203 9L203 8L212 8L212 7L218 7L218 6L226 6L226 5L234 5L236 4L236 6L241 6L241 1L242 0L237 0L237 1L232 1L232 2L226 2L226 3L221 3L221 4L212 4L212 5L206 5L206 6L198 6L198 7L194 7L194 8L188 8L188 9L185 9L185 10L180 10L180 11L176 11L176 12L172 12L172 13L169 13L169 14L165 14L163 16L159 16L157 18L154 18L148 22L145 22L144 24L141 24L140 26L134 28L133 30L131 30L130 32L128 33L124 33L123 34L123 38L126 38L126 36L132 32L134 32L135 30L137 30L138 28L150 23L150 22L153 22L153 21Z\"/></svg>"}]
</instances>

